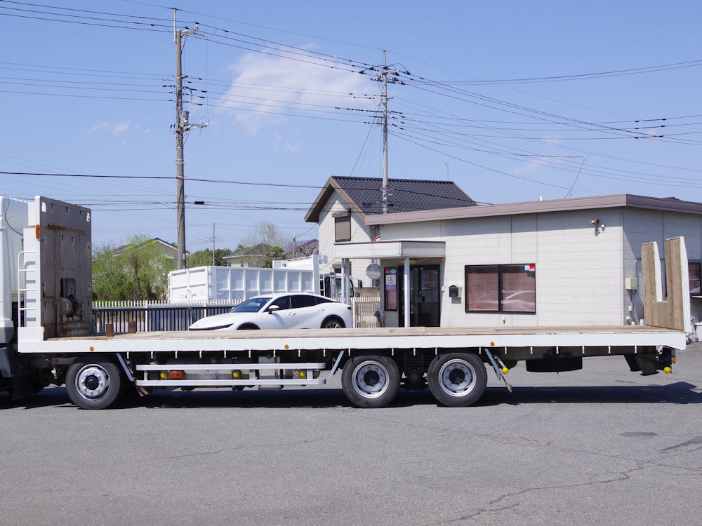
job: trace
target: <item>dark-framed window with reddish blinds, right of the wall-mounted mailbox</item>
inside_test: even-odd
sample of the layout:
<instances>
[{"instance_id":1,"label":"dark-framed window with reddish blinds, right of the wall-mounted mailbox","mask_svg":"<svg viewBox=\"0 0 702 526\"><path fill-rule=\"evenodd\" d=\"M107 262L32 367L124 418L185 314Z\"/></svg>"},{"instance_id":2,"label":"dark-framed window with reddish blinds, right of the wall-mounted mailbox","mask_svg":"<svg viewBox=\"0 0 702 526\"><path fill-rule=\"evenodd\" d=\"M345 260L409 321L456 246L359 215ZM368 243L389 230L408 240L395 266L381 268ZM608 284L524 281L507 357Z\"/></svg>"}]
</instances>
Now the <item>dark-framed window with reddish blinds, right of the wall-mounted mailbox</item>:
<instances>
[{"instance_id":1,"label":"dark-framed window with reddish blinds, right of the wall-mounted mailbox","mask_svg":"<svg viewBox=\"0 0 702 526\"><path fill-rule=\"evenodd\" d=\"M536 265L466 265L466 312L536 313Z\"/></svg>"}]
</instances>

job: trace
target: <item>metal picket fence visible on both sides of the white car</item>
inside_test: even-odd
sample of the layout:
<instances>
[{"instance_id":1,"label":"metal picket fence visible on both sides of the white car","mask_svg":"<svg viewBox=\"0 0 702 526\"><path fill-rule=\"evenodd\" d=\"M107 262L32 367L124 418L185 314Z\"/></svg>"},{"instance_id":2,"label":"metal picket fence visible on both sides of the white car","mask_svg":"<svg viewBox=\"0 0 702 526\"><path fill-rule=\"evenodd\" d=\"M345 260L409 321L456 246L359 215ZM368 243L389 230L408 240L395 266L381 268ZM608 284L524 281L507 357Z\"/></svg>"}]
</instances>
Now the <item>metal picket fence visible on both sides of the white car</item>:
<instances>
[{"instance_id":1,"label":"metal picket fence visible on both sides of the white car","mask_svg":"<svg viewBox=\"0 0 702 526\"><path fill-rule=\"evenodd\" d=\"M378 327L378 297L351 299L354 327ZM112 323L115 333L128 332L134 322L137 332L152 330L187 330L205 316L228 312L237 302L166 303L166 302L93 302L93 332L105 333Z\"/></svg>"}]
</instances>

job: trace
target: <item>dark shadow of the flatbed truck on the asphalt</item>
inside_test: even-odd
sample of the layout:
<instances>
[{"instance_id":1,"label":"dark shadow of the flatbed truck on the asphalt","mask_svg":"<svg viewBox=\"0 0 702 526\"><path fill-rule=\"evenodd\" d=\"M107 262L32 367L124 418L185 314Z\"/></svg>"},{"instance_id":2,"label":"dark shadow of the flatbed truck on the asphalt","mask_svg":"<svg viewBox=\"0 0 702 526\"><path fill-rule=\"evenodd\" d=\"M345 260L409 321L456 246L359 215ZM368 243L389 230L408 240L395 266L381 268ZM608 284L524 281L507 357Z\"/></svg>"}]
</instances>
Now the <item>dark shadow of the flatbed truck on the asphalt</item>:
<instances>
[{"instance_id":1,"label":"dark shadow of the flatbed truck on the asphalt","mask_svg":"<svg viewBox=\"0 0 702 526\"><path fill-rule=\"evenodd\" d=\"M515 387L510 393L504 387L489 387L476 407L494 405L564 404L564 403L702 403L698 386L676 382L664 386L543 386ZM436 405L428 389L404 391L401 389L390 407ZM289 389L282 391L227 391L224 389L154 391L140 398L136 395L121 398L114 409L146 407L148 409L188 409L197 407L283 408L283 407L349 407L341 389ZM74 407L64 387L44 389L37 396L13 401L8 393L0 394L0 410L19 407L27 410L39 407Z\"/></svg>"}]
</instances>

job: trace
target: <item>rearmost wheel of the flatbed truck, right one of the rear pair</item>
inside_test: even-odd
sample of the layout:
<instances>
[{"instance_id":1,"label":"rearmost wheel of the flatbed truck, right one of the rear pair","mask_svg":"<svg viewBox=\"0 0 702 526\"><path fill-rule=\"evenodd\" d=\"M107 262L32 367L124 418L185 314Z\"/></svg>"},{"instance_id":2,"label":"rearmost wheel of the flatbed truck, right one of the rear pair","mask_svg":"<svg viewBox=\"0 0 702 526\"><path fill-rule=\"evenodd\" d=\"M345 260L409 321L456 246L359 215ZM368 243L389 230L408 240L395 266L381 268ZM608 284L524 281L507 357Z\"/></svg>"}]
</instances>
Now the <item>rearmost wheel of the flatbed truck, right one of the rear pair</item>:
<instances>
[{"instance_id":1,"label":"rearmost wheel of the flatbed truck, right one of the rear pair","mask_svg":"<svg viewBox=\"0 0 702 526\"><path fill-rule=\"evenodd\" d=\"M429 389L437 401L449 407L471 405L482 396L487 373L482 360L472 353L439 354L427 372Z\"/></svg>"}]
</instances>

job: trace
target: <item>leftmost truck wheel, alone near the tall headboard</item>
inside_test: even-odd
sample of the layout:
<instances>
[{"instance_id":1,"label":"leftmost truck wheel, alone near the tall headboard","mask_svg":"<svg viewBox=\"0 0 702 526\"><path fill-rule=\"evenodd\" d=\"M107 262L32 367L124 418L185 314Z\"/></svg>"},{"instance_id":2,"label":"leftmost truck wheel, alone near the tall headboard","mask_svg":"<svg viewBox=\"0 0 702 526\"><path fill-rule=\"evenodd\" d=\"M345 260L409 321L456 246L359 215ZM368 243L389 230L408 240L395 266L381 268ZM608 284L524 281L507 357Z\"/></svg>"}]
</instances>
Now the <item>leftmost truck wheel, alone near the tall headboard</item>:
<instances>
[{"instance_id":1,"label":"leftmost truck wheel, alone near the tall headboard","mask_svg":"<svg viewBox=\"0 0 702 526\"><path fill-rule=\"evenodd\" d=\"M81 358L68 367L66 390L71 401L84 409L110 407L121 391L122 372L108 358Z\"/></svg>"}]
</instances>

